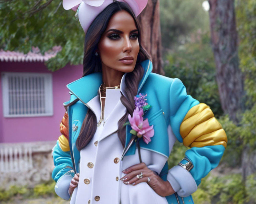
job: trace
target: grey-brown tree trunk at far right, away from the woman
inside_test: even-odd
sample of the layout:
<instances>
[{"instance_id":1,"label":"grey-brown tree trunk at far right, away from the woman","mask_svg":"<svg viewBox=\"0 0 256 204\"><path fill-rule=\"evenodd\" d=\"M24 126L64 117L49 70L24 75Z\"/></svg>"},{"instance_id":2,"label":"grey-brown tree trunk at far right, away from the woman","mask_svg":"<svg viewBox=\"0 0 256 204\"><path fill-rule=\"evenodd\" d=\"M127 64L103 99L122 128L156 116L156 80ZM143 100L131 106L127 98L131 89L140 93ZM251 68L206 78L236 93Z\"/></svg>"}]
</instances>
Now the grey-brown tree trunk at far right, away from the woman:
<instances>
[{"instance_id":1,"label":"grey-brown tree trunk at far right, away from the woman","mask_svg":"<svg viewBox=\"0 0 256 204\"><path fill-rule=\"evenodd\" d=\"M239 69L234 0L209 0L211 44L222 109L238 122L243 110L243 76Z\"/></svg>"}]
</instances>

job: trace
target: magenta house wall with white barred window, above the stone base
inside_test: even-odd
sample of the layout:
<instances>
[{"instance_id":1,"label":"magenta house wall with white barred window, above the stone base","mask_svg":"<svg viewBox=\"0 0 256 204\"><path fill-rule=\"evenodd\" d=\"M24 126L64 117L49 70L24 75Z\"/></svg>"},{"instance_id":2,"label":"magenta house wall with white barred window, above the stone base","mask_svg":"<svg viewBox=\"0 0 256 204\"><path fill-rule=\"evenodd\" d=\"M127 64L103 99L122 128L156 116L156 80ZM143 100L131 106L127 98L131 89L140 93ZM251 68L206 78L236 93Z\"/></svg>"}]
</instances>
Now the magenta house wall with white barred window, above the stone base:
<instances>
[{"instance_id":1,"label":"magenta house wall with white barred window, above the stone base","mask_svg":"<svg viewBox=\"0 0 256 204\"><path fill-rule=\"evenodd\" d=\"M51 72L38 62L44 58L14 62L7 54L0 53L0 143L56 141L70 97L66 85L81 77L82 65Z\"/></svg>"}]
</instances>

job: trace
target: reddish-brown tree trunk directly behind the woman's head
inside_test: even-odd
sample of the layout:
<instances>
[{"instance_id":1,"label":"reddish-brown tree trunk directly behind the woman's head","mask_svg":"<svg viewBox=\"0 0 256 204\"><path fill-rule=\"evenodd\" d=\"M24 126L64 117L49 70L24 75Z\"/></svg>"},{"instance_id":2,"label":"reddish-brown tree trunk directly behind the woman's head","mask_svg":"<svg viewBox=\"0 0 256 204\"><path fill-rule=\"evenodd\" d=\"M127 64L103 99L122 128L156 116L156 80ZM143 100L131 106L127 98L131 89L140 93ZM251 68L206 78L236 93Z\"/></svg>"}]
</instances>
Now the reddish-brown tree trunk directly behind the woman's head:
<instances>
[{"instance_id":1,"label":"reddish-brown tree trunk directly behind the woman's head","mask_svg":"<svg viewBox=\"0 0 256 204\"><path fill-rule=\"evenodd\" d=\"M142 45L152 57L153 72L164 74L162 69L159 0L149 0L138 20L141 25Z\"/></svg>"}]
</instances>

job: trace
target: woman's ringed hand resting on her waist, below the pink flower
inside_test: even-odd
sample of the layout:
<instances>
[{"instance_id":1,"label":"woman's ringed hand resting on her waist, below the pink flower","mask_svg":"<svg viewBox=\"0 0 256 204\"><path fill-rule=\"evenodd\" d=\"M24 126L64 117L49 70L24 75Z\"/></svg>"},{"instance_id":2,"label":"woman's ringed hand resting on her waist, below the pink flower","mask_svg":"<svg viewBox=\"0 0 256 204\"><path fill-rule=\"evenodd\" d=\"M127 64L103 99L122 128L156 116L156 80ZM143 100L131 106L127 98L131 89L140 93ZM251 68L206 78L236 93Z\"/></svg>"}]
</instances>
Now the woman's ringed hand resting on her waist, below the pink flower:
<instances>
[{"instance_id":1,"label":"woman's ringed hand resting on her waist, below the pink flower","mask_svg":"<svg viewBox=\"0 0 256 204\"><path fill-rule=\"evenodd\" d=\"M145 163L135 164L123 171L126 175L121 180L129 185L137 185L141 182L147 182L147 184L159 195L169 196L175 193L171 184L168 181L164 181L156 175L153 171L147 168ZM137 175L142 173L142 178L139 179ZM148 179L149 178L149 179ZM148 180L150 180L148 182Z\"/></svg>"}]
</instances>

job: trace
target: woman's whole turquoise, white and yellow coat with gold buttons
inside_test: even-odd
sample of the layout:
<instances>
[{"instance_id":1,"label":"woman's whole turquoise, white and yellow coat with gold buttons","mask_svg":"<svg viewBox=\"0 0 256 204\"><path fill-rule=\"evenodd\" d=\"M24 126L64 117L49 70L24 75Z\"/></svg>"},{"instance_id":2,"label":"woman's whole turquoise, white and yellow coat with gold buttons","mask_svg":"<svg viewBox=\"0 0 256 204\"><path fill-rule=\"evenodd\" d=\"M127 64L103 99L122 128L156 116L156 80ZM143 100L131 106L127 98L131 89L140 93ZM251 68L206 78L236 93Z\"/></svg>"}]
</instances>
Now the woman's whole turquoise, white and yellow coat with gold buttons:
<instances>
[{"instance_id":1,"label":"woman's whole turquoise, white and yellow coat with gold buttons","mask_svg":"<svg viewBox=\"0 0 256 204\"><path fill-rule=\"evenodd\" d=\"M101 73L94 73L67 85L72 94L70 101L64 103L69 116L69 137L60 136L53 148L56 167L52 177L57 182L55 191L60 197L70 198L69 183L76 172L80 173L80 178L71 203L193 203L190 195L201 178L219 163L227 139L209 107L187 95L180 80L150 73L152 63L149 60L142 66L144 76L138 93L147 93L147 102L152 108L144 119L148 118L155 131L149 144L140 140L142 161L168 180L176 193L161 197L147 183L132 186L120 180L124 176L122 170L140 162L138 149L129 134L131 127L126 126L125 150L116 133L118 121L126 112L120 101L125 75L121 90L106 92L104 122L97 127L90 143L80 152L77 150L76 139L88 108L97 121L100 118L97 93L102 79ZM190 172L178 165L168 170L167 159L177 139L191 147L185 155L194 165Z\"/></svg>"}]
</instances>

